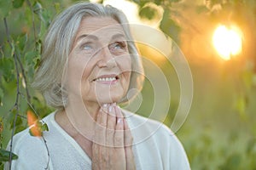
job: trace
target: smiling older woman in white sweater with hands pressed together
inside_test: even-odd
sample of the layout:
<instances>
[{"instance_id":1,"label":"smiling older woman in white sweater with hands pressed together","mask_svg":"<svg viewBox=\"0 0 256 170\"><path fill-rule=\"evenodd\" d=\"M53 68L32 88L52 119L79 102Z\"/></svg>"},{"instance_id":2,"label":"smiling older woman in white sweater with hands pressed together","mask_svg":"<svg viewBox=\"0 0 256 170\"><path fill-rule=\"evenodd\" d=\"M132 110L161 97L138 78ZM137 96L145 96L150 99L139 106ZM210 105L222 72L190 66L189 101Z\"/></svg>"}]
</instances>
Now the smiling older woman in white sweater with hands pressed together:
<instances>
[{"instance_id":1,"label":"smiling older woman in white sweater with hands pressed together","mask_svg":"<svg viewBox=\"0 0 256 170\"><path fill-rule=\"evenodd\" d=\"M33 86L56 111L49 132L15 135L14 169L189 169L183 146L160 122L119 108L143 84L143 66L125 15L78 3L45 37Z\"/></svg>"}]
</instances>

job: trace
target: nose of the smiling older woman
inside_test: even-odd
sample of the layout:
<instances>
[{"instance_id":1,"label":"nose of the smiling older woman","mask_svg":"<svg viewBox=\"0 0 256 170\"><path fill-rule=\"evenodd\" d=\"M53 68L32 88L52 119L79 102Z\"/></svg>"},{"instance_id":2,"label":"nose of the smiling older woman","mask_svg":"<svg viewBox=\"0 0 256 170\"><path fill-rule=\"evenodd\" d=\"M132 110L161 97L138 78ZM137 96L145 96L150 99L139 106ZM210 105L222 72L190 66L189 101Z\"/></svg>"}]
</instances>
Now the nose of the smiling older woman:
<instances>
[{"instance_id":1,"label":"nose of the smiling older woman","mask_svg":"<svg viewBox=\"0 0 256 170\"><path fill-rule=\"evenodd\" d=\"M99 61L97 62L97 65L99 67L108 67L108 68L113 68L115 67L116 61L113 57L113 54L111 54L110 50L108 47L103 47L99 53Z\"/></svg>"}]
</instances>

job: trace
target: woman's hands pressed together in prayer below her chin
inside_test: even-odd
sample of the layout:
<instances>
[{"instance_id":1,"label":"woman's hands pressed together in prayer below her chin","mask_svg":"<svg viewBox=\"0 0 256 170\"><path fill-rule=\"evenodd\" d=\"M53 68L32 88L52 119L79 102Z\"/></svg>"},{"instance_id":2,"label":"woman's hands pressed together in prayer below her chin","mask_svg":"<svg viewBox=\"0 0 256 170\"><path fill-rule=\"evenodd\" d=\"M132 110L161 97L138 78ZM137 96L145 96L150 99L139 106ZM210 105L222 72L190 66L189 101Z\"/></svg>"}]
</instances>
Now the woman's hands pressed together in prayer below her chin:
<instances>
[{"instance_id":1,"label":"woman's hands pressed together in prayer below her chin","mask_svg":"<svg viewBox=\"0 0 256 170\"><path fill-rule=\"evenodd\" d=\"M131 145L131 131L119 106L102 105L96 116L92 169L136 169Z\"/></svg>"}]
</instances>

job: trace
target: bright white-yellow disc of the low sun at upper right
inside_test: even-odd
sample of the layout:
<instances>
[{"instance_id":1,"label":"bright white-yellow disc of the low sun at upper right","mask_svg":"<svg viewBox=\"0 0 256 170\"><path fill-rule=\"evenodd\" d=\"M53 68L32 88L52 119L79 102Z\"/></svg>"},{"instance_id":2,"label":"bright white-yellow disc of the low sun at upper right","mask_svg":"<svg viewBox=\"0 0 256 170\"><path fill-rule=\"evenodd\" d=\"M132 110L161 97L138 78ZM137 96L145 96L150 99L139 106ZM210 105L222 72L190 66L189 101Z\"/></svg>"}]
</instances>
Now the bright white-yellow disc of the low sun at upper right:
<instances>
[{"instance_id":1,"label":"bright white-yellow disc of the low sun at upper right","mask_svg":"<svg viewBox=\"0 0 256 170\"><path fill-rule=\"evenodd\" d=\"M221 58L228 60L241 53L241 33L235 27L218 26L214 31L212 42Z\"/></svg>"}]
</instances>

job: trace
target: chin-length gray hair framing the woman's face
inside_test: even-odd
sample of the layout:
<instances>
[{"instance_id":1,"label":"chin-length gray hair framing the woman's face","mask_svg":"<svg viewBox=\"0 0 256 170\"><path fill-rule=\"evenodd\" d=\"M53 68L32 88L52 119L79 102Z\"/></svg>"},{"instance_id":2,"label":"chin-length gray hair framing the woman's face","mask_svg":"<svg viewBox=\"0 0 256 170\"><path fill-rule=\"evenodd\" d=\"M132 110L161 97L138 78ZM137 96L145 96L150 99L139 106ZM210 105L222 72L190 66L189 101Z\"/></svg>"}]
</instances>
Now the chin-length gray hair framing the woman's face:
<instances>
[{"instance_id":1,"label":"chin-length gray hair framing the woman's face","mask_svg":"<svg viewBox=\"0 0 256 170\"><path fill-rule=\"evenodd\" d=\"M80 22L87 16L109 16L123 26L125 36L129 40L127 43L131 54L132 72L128 92L134 88L139 92L143 87L143 65L134 42L130 41L132 38L125 14L110 5L77 3L59 14L49 26L43 43L41 64L32 83L32 87L44 95L47 105L56 109L63 109L67 103L67 91L62 88L61 78L67 66L68 55L71 53ZM136 94L133 94L132 97L134 96ZM120 102L127 101L128 99L125 95Z\"/></svg>"}]
</instances>

